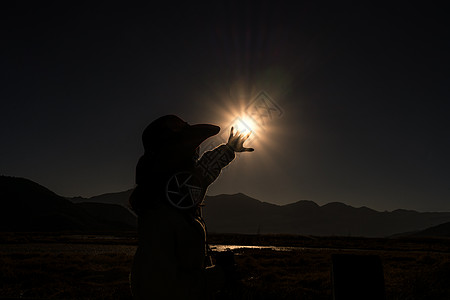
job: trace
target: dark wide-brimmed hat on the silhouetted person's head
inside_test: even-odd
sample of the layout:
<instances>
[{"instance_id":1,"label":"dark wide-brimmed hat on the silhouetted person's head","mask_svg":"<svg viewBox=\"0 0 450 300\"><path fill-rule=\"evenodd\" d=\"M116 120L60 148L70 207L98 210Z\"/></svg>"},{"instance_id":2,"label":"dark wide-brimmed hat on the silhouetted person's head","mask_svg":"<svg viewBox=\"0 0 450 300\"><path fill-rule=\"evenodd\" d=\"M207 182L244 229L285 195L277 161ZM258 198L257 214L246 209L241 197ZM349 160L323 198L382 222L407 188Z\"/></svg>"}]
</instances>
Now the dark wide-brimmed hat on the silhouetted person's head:
<instances>
[{"instance_id":1,"label":"dark wide-brimmed hat on the silhouetted person's head","mask_svg":"<svg viewBox=\"0 0 450 300\"><path fill-rule=\"evenodd\" d=\"M212 124L190 125L175 115L160 117L142 133L145 151L158 152L172 147L196 149L207 138L218 134L220 127Z\"/></svg>"}]
</instances>

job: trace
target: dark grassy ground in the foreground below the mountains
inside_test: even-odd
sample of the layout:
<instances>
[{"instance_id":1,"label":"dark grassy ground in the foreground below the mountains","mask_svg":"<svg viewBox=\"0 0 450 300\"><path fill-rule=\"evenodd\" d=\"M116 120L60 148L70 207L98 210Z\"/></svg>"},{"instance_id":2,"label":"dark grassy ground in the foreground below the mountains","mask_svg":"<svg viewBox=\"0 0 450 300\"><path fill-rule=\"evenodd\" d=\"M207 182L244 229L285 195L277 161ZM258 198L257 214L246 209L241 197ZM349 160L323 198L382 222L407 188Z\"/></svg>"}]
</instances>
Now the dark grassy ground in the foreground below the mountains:
<instances>
[{"instance_id":1,"label":"dark grassy ground in the foreground below the mountains","mask_svg":"<svg viewBox=\"0 0 450 300\"><path fill-rule=\"evenodd\" d=\"M246 299L331 299L331 255L376 254L387 299L450 299L450 240L212 235L234 249ZM131 299L132 234L0 234L0 299Z\"/></svg>"}]
</instances>

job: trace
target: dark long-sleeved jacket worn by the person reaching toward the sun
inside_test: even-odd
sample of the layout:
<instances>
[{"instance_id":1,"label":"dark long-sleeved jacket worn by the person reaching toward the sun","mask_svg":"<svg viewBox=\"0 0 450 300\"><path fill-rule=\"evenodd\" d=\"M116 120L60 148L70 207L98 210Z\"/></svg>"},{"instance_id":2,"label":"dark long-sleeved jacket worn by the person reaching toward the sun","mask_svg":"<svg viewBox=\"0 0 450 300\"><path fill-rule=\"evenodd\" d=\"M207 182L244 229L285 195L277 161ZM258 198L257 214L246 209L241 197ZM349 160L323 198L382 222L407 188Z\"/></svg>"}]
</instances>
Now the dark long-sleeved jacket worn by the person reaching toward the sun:
<instances>
[{"instance_id":1,"label":"dark long-sleeved jacket worn by the person reaching toward the sun","mask_svg":"<svg viewBox=\"0 0 450 300\"><path fill-rule=\"evenodd\" d=\"M191 171L202 178L203 197L207 187L234 156L231 148L221 145L205 152L200 160L194 162ZM153 163L156 166L160 164L158 161ZM152 176L142 172L134 195L147 197L145 200L150 205L143 207L138 215L139 246L131 271L133 297L208 299L220 288L223 275L216 267L207 265L206 231L201 216L194 210L176 209L165 197L169 173L186 169L186 166L168 166L167 169L169 171L161 173L163 168L147 168L147 175L152 172L159 175L144 187L145 180L151 180Z\"/></svg>"}]
</instances>

